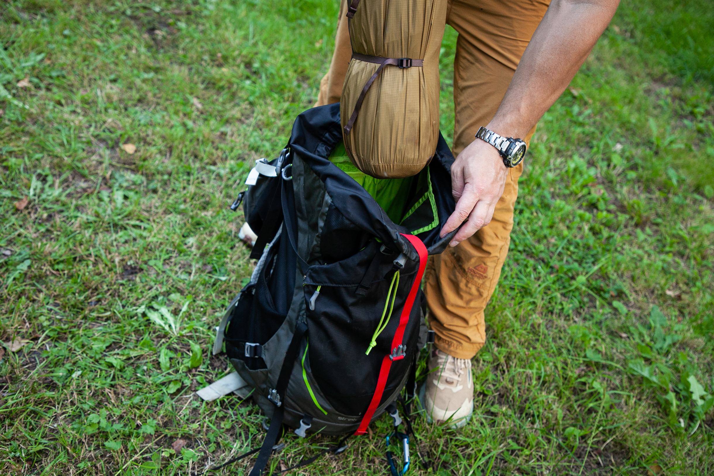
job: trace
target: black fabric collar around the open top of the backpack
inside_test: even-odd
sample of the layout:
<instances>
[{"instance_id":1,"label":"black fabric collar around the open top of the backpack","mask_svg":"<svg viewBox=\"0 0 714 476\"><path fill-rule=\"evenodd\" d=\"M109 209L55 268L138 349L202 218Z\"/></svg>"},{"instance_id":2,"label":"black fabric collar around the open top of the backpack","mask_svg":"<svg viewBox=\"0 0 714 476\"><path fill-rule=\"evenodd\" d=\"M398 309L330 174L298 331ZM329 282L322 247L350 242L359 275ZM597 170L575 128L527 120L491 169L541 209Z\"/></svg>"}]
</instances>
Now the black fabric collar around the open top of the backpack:
<instances>
[{"instance_id":1,"label":"black fabric collar around the open top of the backpack","mask_svg":"<svg viewBox=\"0 0 714 476\"><path fill-rule=\"evenodd\" d=\"M454 158L441 133L433 159L426 166L428 173L413 181L410 195L414 203L408 204L409 213L401 224L394 223L368 191L329 160L341 141L340 104L333 103L301 113L293 124L288 148L316 173L334 206L359 228L383 243L395 243L411 260L418 260L418 255L401 233L416 235L430 255L446 249L456 232L444 238L440 238L439 233L453 213L456 202L451 194ZM429 226L430 223L436 223L436 226Z\"/></svg>"}]
</instances>

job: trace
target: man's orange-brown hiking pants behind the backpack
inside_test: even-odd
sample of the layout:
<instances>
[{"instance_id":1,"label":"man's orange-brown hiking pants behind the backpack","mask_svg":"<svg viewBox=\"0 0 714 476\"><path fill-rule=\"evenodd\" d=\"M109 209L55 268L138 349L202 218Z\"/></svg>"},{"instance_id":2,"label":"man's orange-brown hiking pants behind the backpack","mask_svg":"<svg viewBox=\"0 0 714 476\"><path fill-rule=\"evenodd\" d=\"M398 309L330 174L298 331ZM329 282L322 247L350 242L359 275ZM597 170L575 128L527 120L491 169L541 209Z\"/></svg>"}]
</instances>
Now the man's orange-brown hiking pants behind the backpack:
<instances>
[{"instance_id":1,"label":"man's orange-brown hiking pants behind the backpack","mask_svg":"<svg viewBox=\"0 0 714 476\"><path fill-rule=\"evenodd\" d=\"M335 52L320 83L316 106L340 101L352 49L341 0ZM448 0L446 23L458 32L453 62L453 153L474 140L496 114L523 51L550 0ZM525 138L529 142L535 128ZM526 156L526 161L528 157ZM493 219L468 240L430 258L425 275L429 324L436 347L470 359L486 342L483 311L511 243L513 206L523 163L509 171Z\"/></svg>"}]
</instances>

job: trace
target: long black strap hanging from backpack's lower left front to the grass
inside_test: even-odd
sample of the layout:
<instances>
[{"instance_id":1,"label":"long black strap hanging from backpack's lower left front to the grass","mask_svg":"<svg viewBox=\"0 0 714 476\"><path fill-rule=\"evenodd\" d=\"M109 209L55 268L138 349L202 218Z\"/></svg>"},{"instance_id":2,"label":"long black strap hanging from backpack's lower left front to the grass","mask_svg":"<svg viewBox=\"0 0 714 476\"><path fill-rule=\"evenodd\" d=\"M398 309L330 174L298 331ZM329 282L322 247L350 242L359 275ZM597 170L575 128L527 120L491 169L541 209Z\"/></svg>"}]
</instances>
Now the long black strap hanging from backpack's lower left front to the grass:
<instances>
[{"instance_id":1,"label":"long black strap hanging from backpack's lower left front to the grass","mask_svg":"<svg viewBox=\"0 0 714 476\"><path fill-rule=\"evenodd\" d=\"M293 373L293 364L295 363L296 358L298 358L300 343L302 342L307 330L308 325L306 323L299 323L295 326L295 333L293 333L293 338L290 341L290 345L288 345L288 351L285 353L285 358L283 359L283 365L280 368L280 374L278 375L278 382L276 383L275 388L278 396L280 397L280 405L276 405L275 410L273 410L273 417L270 420L268 434L266 435L266 439L263 440L261 452L258 453L258 459L256 460L256 464L253 465L253 469L251 470L251 474L249 476L261 476L261 472L263 472L263 469L265 469L268 464L268 458L270 458L271 452L273 451L273 445L275 445L276 439L280 434L281 427L283 426L283 416L285 415L283 410L285 391L288 389L290 376Z\"/></svg>"}]
</instances>

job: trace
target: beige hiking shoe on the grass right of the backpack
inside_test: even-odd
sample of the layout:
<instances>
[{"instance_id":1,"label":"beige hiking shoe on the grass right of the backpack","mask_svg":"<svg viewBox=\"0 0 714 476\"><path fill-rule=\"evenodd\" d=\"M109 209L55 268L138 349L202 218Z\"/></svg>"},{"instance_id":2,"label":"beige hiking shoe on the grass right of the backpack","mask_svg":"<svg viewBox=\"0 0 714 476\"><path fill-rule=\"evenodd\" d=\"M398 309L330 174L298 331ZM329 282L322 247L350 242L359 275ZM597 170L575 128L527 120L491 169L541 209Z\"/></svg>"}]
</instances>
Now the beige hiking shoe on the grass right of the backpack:
<instances>
[{"instance_id":1,"label":"beige hiking shoe on the grass right of the backpack","mask_svg":"<svg viewBox=\"0 0 714 476\"><path fill-rule=\"evenodd\" d=\"M471 360L457 359L435 348L429 356L428 370L419 395L427 421L463 427L473 413Z\"/></svg>"}]
</instances>

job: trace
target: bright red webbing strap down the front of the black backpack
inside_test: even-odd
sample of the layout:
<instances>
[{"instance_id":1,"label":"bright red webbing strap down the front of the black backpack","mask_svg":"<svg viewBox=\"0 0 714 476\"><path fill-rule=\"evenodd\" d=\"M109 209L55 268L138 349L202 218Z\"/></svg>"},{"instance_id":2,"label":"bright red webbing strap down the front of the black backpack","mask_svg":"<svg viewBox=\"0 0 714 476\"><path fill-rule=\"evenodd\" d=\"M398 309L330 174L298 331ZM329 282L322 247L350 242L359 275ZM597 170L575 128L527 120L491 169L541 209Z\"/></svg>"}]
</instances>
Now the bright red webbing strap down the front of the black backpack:
<instances>
[{"instance_id":1,"label":"bright red webbing strap down the front of the black backpack","mask_svg":"<svg viewBox=\"0 0 714 476\"><path fill-rule=\"evenodd\" d=\"M416 278L414 278L414 283L411 285L411 290L406 298L406 303L402 308L401 316L399 317L399 325L397 327L396 333L394 333L394 338L392 339L391 349L396 349L402 343L404 338L404 330L406 330L406 325L409 322L409 315L411 314L411 308L414 305L414 300L416 299L416 293L421 285L421 278L424 275L424 270L426 269L426 246L421 243L419 238L413 235L406 235L401 233L401 235L409 240L409 243L416 248L417 253L419 253L419 270L416 273ZM398 355L394 360L401 360L404 355ZM382 360L382 367L379 369L379 377L377 379L377 388L374 390L374 395L372 395L372 401L369 403L369 407L362 417L362 421L359 424L355 435L364 435L367 432L367 427L369 422L372 420L374 412L377 411L380 400L382 400L382 394L384 393L384 388L387 385L387 377L389 375L389 369L392 366L392 359L389 355L385 355Z\"/></svg>"}]
</instances>

